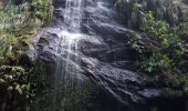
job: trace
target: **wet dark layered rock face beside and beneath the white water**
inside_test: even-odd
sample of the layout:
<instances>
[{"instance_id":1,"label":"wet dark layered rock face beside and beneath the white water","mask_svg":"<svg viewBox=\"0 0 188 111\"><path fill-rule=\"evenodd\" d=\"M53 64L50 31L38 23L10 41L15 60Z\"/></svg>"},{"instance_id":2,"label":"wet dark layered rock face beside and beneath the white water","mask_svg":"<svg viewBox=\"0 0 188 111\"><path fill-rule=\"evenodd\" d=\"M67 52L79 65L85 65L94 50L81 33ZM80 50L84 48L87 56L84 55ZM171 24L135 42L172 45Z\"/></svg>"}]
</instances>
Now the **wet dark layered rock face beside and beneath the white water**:
<instances>
[{"instance_id":1,"label":"wet dark layered rock face beside and beneath the white water","mask_svg":"<svg viewBox=\"0 0 188 111\"><path fill-rule=\"evenodd\" d=\"M35 38L34 49L29 53L32 60L44 60L51 65L51 70L55 69L58 61L70 62L72 68L84 77L83 79L87 78L98 84L124 107L132 107L133 103L144 107L148 104L145 111L150 111L150 108L158 105L164 108L163 103L166 104L166 109L159 108L159 111L178 111L173 108L184 107L184 104L176 104L176 99L177 102L181 99L175 97L174 100L168 100L161 95L160 91L165 87L160 85L158 75L136 72L138 53L128 47L126 37L144 42L143 36L119 26L114 19L117 14L113 4L107 0L85 1L82 34L76 41L77 49L76 52L69 52L67 46L63 46L66 41L63 42L64 39L60 36L64 30L62 27L64 2L64 0L55 0L55 19L52 27L43 29ZM144 42L143 46L147 43ZM66 54L70 56L70 61L64 59ZM175 105L169 105L170 102Z\"/></svg>"}]
</instances>

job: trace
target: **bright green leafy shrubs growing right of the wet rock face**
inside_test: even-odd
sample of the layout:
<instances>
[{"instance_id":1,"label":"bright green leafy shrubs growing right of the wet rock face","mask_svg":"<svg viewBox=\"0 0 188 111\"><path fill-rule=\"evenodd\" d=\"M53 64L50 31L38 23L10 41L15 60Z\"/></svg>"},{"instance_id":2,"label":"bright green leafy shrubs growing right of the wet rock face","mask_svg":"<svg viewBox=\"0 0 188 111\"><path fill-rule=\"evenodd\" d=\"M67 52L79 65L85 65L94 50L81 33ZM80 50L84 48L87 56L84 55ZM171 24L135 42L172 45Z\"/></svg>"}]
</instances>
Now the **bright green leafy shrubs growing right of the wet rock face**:
<instances>
[{"instance_id":1,"label":"bright green leafy shrubs growing right of the wet rock face","mask_svg":"<svg viewBox=\"0 0 188 111\"><path fill-rule=\"evenodd\" d=\"M182 53L180 49L174 48L181 43L181 40L166 22L156 20L152 12L146 14L146 19L147 22L142 29L150 40L157 43L158 49L153 49L153 54L145 58L142 68L148 72L168 70L174 67L175 58ZM173 52L175 56L171 58Z\"/></svg>"}]
</instances>

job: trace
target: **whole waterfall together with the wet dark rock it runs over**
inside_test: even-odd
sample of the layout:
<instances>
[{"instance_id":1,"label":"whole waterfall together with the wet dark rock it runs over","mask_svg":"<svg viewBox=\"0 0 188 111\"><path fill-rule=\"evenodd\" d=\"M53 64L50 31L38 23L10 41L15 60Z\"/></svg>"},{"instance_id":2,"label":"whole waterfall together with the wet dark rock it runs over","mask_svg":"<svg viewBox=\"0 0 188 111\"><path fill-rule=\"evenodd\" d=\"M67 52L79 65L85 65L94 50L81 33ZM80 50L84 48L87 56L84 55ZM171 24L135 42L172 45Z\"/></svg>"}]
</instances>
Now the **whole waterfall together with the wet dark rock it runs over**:
<instances>
[{"instance_id":1,"label":"whole waterfall together with the wet dark rock it runs over","mask_svg":"<svg viewBox=\"0 0 188 111\"><path fill-rule=\"evenodd\" d=\"M114 1L55 0L53 26L44 29L36 44L39 57L51 63L50 111L125 111L122 107L129 101L143 99L145 91L138 93L137 88L147 77L122 67L130 64L125 32L139 36L116 22ZM95 89L91 81L97 84L94 94L88 91ZM91 110L93 105L97 110Z\"/></svg>"}]
</instances>

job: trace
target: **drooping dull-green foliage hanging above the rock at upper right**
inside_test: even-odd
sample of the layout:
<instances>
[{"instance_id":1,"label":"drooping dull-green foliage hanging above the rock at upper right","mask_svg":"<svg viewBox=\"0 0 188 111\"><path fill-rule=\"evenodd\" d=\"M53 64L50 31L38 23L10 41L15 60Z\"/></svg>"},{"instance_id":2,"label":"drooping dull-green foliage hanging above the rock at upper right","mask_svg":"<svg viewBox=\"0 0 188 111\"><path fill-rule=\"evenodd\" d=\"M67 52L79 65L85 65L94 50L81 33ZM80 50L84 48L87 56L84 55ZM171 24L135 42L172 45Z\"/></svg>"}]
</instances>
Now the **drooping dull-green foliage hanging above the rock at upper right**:
<instances>
[{"instance_id":1,"label":"drooping dull-green foliage hanging above the rock at upper right","mask_svg":"<svg viewBox=\"0 0 188 111\"><path fill-rule=\"evenodd\" d=\"M125 24L134 29L143 26L144 13L148 11L170 26L176 26L181 18L178 6L173 0L117 0L116 9L122 12Z\"/></svg>"}]
</instances>

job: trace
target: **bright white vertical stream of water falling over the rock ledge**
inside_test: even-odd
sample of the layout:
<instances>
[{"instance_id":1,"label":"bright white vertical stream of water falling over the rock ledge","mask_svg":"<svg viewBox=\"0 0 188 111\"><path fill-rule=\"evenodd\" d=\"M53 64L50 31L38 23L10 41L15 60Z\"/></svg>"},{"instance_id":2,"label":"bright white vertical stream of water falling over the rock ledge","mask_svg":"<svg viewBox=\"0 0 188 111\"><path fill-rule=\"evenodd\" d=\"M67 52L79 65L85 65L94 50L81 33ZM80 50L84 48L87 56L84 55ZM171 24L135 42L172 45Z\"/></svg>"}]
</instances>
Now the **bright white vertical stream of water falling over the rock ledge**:
<instances>
[{"instance_id":1,"label":"bright white vertical stream of water falling over the rock ledge","mask_svg":"<svg viewBox=\"0 0 188 111\"><path fill-rule=\"evenodd\" d=\"M63 17L64 26L58 33L61 38L61 42L58 47L58 53L60 53L60 58L65 63L65 65L61 68L64 70L64 74L75 74L77 72L74 72L74 69L79 67L79 61L76 61L76 57L79 56L77 42L82 37L82 33L80 32L82 22L82 0L65 0Z\"/></svg>"}]
</instances>

